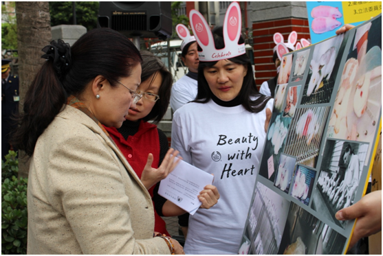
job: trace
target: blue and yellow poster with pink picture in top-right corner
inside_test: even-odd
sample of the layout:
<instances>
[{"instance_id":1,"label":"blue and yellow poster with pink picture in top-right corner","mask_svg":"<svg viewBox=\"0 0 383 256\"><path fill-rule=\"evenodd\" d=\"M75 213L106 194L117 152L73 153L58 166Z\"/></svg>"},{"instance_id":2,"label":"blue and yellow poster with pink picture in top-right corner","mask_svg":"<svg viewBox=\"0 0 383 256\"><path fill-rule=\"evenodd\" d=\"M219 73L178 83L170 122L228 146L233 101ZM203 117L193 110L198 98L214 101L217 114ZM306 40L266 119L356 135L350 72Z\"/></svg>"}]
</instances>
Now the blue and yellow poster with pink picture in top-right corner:
<instances>
[{"instance_id":1,"label":"blue and yellow poster with pink picture in top-right corner","mask_svg":"<svg viewBox=\"0 0 383 256\"><path fill-rule=\"evenodd\" d=\"M382 2L307 1L311 43L335 36L344 24L360 25L382 13Z\"/></svg>"}]
</instances>

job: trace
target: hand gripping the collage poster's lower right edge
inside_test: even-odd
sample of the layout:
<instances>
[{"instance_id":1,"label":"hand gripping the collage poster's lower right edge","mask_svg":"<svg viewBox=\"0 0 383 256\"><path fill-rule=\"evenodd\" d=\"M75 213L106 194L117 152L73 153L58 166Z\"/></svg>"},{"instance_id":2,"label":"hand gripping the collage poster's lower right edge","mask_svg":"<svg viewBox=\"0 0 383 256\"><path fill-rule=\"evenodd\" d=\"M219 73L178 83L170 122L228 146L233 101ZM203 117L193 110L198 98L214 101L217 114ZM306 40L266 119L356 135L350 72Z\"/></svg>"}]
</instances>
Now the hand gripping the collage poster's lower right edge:
<instances>
[{"instance_id":1,"label":"hand gripping the collage poster's lower right edge","mask_svg":"<svg viewBox=\"0 0 383 256\"><path fill-rule=\"evenodd\" d=\"M382 230L382 190L363 196L350 207L341 209L335 215L338 220L356 220L349 248L362 237L373 235Z\"/></svg>"}]
</instances>

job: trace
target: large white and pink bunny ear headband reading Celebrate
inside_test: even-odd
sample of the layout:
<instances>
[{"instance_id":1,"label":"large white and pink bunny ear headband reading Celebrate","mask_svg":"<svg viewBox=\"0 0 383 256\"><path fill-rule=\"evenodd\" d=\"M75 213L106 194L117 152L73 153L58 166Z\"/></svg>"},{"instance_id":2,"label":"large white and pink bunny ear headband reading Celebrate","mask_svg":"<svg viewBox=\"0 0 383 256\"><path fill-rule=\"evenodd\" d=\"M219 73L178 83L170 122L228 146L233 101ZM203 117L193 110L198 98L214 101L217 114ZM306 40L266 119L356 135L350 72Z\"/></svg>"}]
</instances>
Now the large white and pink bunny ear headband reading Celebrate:
<instances>
[{"instance_id":1,"label":"large white and pink bunny ear headband reading Celebrate","mask_svg":"<svg viewBox=\"0 0 383 256\"><path fill-rule=\"evenodd\" d=\"M215 48L212 32L201 13L197 10L191 10L189 19L193 34L197 39L199 47L202 49L202 51L198 52L199 60L226 60L227 58L245 54L245 43L238 44L239 37L241 36L242 19L241 9L237 2L229 5L225 20L223 21L223 40L225 42L225 48L223 49Z\"/></svg>"}]
</instances>

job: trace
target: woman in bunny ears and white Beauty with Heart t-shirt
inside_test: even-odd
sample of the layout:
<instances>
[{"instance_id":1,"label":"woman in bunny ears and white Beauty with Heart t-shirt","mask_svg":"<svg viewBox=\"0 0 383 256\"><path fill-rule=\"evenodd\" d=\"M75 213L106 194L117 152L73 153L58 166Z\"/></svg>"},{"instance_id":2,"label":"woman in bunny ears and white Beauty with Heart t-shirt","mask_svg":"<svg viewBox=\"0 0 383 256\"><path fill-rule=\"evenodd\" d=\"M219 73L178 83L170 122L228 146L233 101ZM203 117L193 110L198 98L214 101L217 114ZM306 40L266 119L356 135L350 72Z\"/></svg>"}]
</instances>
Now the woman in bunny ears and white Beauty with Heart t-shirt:
<instances>
[{"instance_id":1,"label":"woman in bunny ears and white Beauty with Heart t-shirt","mask_svg":"<svg viewBox=\"0 0 383 256\"><path fill-rule=\"evenodd\" d=\"M172 147L184 161L214 174L221 198L190 216L184 251L237 254L273 100L256 89L238 3L230 4L223 27L210 32L196 10L190 25L200 47L198 93L175 112Z\"/></svg>"}]
</instances>

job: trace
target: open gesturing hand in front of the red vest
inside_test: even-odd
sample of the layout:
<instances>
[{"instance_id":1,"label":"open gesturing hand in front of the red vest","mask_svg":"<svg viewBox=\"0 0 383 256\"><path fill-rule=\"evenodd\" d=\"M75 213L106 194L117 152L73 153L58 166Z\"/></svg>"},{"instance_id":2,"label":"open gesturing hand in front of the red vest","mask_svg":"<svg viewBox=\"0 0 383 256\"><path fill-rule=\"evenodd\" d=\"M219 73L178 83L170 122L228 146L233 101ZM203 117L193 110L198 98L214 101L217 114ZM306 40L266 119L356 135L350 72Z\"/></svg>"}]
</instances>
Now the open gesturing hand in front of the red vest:
<instances>
[{"instance_id":1,"label":"open gesturing hand in front of the red vest","mask_svg":"<svg viewBox=\"0 0 383 256\"><path fill-rule=\"evenodd\" d=\"M150 189L153 185L162 181L174 170L178 162L182 159L178 158L174 161L178 153L179 152L177 150L173 150L173 148L169 149L158 169L151 167L153 163L153 154L148 155L148 161L146 161L146 165L141 175L141 182L144 184L146 189Z\"/></svg>"}]
</instances>

